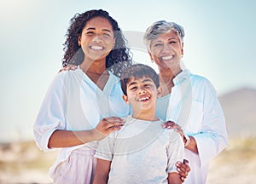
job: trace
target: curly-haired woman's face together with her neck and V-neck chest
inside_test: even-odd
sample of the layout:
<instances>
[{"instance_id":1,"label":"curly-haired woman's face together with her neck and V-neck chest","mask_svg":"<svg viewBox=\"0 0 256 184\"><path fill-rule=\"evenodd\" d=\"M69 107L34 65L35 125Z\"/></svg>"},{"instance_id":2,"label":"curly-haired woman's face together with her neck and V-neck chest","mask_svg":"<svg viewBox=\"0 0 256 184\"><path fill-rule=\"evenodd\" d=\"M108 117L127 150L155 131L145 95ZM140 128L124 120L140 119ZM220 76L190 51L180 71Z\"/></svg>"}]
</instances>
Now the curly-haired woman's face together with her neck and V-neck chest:
<instances>
[{"instance_id":1,"label":"curly-haired woman's face together with her neck and V-neck chest","mask_svg":"<svg viewBox=\"0 0 256 184\"><path fill-rule=\"evenodd\" d=\"M86 23L78 42L84 51L84 62L80 68L103 89L108 81L106 56L115 44L113 27L107 19L95 17Z\"/></svg>"}]
</instances>

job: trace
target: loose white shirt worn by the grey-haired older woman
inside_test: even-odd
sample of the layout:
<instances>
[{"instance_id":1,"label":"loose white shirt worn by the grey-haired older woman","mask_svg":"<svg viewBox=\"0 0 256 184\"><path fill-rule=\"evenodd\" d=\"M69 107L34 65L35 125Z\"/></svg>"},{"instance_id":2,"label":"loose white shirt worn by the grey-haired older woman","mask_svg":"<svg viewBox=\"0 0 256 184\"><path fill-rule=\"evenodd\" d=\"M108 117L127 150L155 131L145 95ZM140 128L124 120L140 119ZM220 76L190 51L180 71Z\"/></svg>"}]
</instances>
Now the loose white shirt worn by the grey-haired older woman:
<instances>
[{"instance_id":1,"label":"loose white shirt worn by the grey-haired older woman","mask_svg":"<svg viewBox=\"0 0 256 184\"><path fill-rule=\"evenodd\" d=\"M204 184L209 161L227 146L224 113L207 78L184 70L173 82L169 98L159 99L169 101L169 105L158 103L156 114L167 107L166 118L161 118L180 124L186 135L195 138L199 155L185 149L184 158L189 160L191 171L184 183Z\"/></svg>"}]
</instances>

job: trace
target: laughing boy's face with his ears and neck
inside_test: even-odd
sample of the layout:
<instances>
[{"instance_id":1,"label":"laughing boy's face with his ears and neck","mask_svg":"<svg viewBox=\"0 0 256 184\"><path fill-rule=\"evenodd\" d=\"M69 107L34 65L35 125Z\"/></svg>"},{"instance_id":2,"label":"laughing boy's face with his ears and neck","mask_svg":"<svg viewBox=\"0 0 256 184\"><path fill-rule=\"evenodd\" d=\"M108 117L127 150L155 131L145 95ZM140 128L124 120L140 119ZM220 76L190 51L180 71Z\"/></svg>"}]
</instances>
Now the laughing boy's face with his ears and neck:
<instances>
[{"instance_id":1,"label":"laughing boy's face with his ears and neck","mask_svg":"<svg viewBox=\"0 0 256 184\"><path fill-rule=\"evenodd\" d=\"M127 83L127 95L123 99L131 103L133 118L156 121L155 103L160 96L161 89L156 88L151 78L131 78Z\"/></svg>"}]
</instances>

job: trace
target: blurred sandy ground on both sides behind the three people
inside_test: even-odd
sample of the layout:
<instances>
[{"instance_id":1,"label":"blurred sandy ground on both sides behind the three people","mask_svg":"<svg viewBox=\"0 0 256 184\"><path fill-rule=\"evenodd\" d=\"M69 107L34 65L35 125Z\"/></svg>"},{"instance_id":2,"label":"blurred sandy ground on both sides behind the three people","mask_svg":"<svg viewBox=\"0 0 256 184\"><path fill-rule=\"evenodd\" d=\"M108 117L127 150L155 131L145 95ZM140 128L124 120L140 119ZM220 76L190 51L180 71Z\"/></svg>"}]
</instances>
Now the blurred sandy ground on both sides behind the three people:
<instances>
[{"instance_id":1,"label":"blurred sandy ground on both sides behind the three people","mask_svg":"<svg viewBox=\"0 0 256 184\"><path fill-rule=\"evenodd\" d=\"M230 141L211 163L207 184L253 183L256 175L256 141ZM0 146L0 184L49 184L48 169L57 152L41 152L33 142Z\"/></svg>"}]
</instances>

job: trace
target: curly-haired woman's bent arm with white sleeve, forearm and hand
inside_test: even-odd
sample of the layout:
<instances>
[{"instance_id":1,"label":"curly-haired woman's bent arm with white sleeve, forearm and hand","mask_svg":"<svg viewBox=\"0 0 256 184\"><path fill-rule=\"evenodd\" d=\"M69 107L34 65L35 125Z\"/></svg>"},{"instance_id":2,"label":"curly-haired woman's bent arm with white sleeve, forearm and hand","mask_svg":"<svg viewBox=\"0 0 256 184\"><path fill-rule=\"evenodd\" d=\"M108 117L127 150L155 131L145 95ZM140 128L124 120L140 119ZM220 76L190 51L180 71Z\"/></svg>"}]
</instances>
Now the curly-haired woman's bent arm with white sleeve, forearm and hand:
<instances>
[{"instance_id":1,"label":"curly-haired woman's bent arm with white sleeve, forearm and hand","mask_svg":"<svg viewBox=\"0 0 256 184\"><path fill-rule=\"evenodd\" d=\"M89 141L101 140L109 132L119 129L123 120L103 118L96 129L72 131L67 124L65 78L67 72L57 74L44 97L33 127L35 141L44 152L54 147L73 147ZM84 121L78 119L83 124ZM75 120L73 120L75 121ZM77 121L80 124L79 121ZM68 130L67 130L68 129Z\"/></svg>"}]
</instances>

